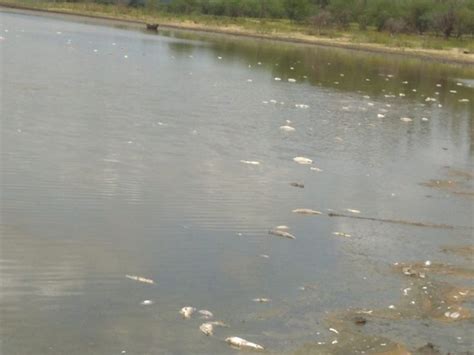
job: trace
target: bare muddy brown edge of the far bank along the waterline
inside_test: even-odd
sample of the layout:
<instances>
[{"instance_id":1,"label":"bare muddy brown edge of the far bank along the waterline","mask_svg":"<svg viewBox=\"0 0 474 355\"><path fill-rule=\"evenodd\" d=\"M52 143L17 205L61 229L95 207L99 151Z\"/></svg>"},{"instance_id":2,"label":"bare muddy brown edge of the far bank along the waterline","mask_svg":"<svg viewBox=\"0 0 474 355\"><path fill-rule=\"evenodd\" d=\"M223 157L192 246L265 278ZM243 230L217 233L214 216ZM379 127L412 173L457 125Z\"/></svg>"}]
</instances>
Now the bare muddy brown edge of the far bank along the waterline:
<instances>
[{"instance_id":1,"label":"bare muddy brown edge of the far bank along the waterline","mask_svg":"<svg viewBox=\"0 0 474 355\"><path fill-rule=\"evenodd\" d=\"M43 13L43 14L53 14L61 16L77 16L83 18L91 18L96 20L105 20L107 22L112 22L114 24L122 24L133 27L143 27L145 28L145 23L140 20L120 18L114 16L102 16L102 15L92 15L92 14L83 14L81 12L70 12L62 10L50 10L50 9L39 9L29 6L23 6L18 4L9 4L3 3L0 1L0 11L18 11L20 13ZM191 32L203 32L203 33L213 33L219 35L231 35L237 37L247 37L255 38L261 40L270 40L270 41L279 41L287 42L294 44L305 44L305 45L316 45L322 47L334 47L342 48L349 50L357 50L368 53L380 53L380 54L392 54L397 56L409 57L409 58L418 58L423 60L429 60L434 62L442 62L446 64L456 64L456 65L473 65L474 64L474 54L461 54L448 52L447 50L430 50L430 49L421 49L421 48L392 48L386 47L378 44L371 43L350 43L342 41L334 41L329 38L317 38L314 36L305 36L301 34L301 37L310 37L310 38L299 38L293 37L285 34L271 34L263 35L254 33L246 30L238 29L228 29L228 28L216 28L209 27L203 24L182 24L182 23L160 23L160 28L163 29L173 29L173 30L182 30L182 31L191 31Z\"/></svg>"}]
</instances>

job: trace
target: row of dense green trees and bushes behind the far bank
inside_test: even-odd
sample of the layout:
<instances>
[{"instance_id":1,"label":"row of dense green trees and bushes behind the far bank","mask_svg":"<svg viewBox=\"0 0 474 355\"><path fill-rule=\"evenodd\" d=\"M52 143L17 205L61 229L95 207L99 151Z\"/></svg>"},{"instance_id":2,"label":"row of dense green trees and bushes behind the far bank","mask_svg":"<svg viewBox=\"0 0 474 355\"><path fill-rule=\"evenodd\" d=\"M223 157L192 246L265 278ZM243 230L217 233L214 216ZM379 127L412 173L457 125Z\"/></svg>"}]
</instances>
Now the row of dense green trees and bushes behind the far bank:
<instances>
[{"instance_id":1,"label":"row of dense green trees and bushes behind the far bank","mask_svg":"<svg viewBox=\"0 0 474 355\"><path fill-rule=\"evenodd\" d=\"M108 2L114 0L96 0ZM276 18L324 28L365 30L445 37L474 34L474 0L119 0L179 14Z\"/></svg>"}]
</instances>

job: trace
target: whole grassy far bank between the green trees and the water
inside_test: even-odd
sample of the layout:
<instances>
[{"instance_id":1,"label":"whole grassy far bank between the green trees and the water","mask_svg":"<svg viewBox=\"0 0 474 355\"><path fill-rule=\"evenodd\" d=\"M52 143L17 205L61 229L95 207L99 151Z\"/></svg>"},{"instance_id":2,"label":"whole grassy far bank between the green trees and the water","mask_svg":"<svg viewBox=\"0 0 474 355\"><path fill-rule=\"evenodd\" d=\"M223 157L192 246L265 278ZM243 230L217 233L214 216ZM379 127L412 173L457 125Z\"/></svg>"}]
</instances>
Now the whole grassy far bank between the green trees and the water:
<instances>
[{"instance_id":1,"label":"whole grassy far bank between the green trees and the water","mask_svg":"<svg viewBox=\"0 0 474 355\"><path fill-rule=\"evenodd\" d=\"M318 32L306 24L283 19L230 18L206 15L177 15L149 8L134 8L97 3L69 3L33 0L0 0L0 6L103 17L162 26L234 35L254 36L292 42L347 47L376 52L406 54L443 61L473 64L474 39L445 39L432 35L390 35L374 29L361 31L357 26L339 31ZM464 52L468 51L469 54Z\"/></svg>"}]
</instances>

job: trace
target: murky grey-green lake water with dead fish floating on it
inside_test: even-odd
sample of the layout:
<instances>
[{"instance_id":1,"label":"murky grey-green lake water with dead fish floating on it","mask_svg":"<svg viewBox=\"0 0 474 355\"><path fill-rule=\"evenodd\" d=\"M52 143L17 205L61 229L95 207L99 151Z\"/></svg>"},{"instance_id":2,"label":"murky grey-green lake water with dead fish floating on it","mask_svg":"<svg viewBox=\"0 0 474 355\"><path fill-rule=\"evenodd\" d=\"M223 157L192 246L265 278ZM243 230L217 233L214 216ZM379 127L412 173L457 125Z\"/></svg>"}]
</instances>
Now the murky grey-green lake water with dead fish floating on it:
<instances>
[{"instance_id":1,"label":"murky grey-green lake water with dead fish floating on it","mask_svg":"<svg viewBox=\"0 0 474 355\"><path fill-rule=\"evenodd\" d=\"M440 251L472 244L469 68L11 12L0 35L2 354L234 353L227 336L291 353L332 339L332 312L397 302L393 262L471 264ZM205 337L183 306L230 327ZM460 352L471 326L367 334Z\"/></svg>"}]
</instances>

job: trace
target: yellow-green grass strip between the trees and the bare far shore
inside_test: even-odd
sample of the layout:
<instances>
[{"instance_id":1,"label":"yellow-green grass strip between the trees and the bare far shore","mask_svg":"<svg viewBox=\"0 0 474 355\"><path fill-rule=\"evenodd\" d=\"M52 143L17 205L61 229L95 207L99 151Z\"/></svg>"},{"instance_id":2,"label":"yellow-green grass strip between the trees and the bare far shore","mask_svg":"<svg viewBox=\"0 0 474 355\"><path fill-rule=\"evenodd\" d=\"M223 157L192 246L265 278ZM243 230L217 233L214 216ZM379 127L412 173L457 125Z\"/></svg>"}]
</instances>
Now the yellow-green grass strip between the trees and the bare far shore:
<instances>
[{"instance_id":1,"label":"yellow-green grass strip between the trees and the bare far shore","mask_svg":"<svg viewBox=\"0 0 474 355\"><path fill-rule=\"evenodd\" d=\"M26 6L42 10L57 10L82 15L95 15L142 22L176 23L237 29L263 35L311 35L323 38L347 39L358 44L378 44L386 47L447 50L463 48L474 52L474 38L445 39L434 34L423 36L415 34L390 35L378 32L374 28L360 30L357 24L351 24L347 30L335 28L317 31L309 25L284 19L230 18L224 16L206 16L201 14L170 14L151 8L133 8L120 5L102 5L97 3L72 3L38 0L0 0L0 3Z\"/></svg>"}]
</instances>

